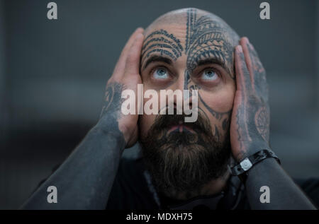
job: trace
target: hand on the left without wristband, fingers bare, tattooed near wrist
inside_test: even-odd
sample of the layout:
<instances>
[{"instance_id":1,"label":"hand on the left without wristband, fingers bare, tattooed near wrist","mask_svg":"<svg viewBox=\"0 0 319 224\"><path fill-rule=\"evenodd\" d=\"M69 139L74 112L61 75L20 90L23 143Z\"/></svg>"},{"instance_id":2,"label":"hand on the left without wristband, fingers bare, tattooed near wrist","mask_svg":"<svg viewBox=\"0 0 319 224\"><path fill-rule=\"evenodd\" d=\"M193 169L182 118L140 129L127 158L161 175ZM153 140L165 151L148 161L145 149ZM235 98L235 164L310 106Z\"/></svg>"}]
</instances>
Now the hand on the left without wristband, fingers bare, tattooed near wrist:
<instances>
[{"instance_id":1,"label":"hand on the left without wristband, fingers bare, tattooed near wrist","mask_svg":"<svg viewBox=\"0 0 319 224\"><path fill-rule=\"evenodd\" d=\"M142 83L139 69L143 31L142 28L135 30L118 59L113 75L106 85L106 103L99 121L104 126L103 129L110 133L121 131L126 147L133 146L138 139L138 114L121 113L121 103L125 100L121 99L121 93L125 89L130 89L138 95L138 84ZM135 108L138 108L137 102L135 99Z\"/></svg>"}]
</instances>

